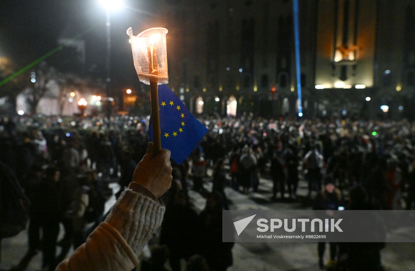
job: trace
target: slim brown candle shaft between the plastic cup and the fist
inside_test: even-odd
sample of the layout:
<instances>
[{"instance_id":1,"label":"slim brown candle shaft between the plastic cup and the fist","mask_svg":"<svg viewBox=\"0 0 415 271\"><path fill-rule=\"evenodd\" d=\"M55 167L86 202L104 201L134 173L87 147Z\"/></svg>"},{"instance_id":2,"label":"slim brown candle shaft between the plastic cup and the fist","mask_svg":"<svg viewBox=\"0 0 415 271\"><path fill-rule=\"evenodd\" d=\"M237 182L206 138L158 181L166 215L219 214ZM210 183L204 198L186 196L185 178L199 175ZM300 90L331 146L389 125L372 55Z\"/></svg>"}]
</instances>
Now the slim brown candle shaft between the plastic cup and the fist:
<instances>
[{"instance_id":1,"label":"slim brown candle shaft between the plastic cup and the fist","mask_svg":"<svg viewBox=\"0 0 415 271\"><path fill-rule=\"evenodd\" d=\"M154 143L154 157L161 150L160 139L160 114L159 114L159 85L157 79L150 78L150 99L151 99L151 118L153 119L153 143Z\"/></svg>"}]
</instances>

